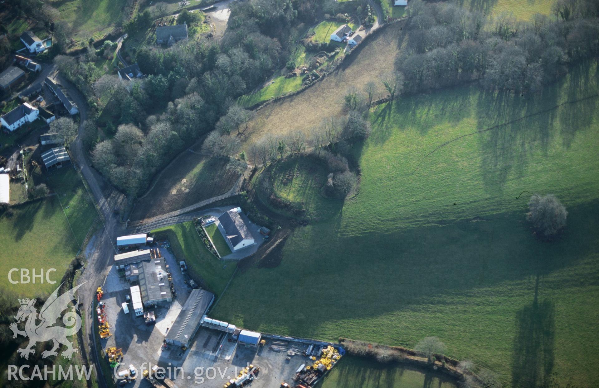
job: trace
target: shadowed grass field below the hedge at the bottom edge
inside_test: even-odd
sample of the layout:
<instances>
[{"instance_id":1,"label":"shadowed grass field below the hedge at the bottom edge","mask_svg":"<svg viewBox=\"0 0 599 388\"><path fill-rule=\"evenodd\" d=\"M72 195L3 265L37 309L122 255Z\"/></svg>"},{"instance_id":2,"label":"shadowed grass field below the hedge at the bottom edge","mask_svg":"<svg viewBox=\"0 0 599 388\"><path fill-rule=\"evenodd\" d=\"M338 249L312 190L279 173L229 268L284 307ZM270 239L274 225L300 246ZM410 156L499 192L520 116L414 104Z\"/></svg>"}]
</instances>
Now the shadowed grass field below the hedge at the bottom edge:
<instances>
[{"instance_id":1,"label":"shadowed grass field below the hedge at the bottom edge","mask_svg":"<svg viewBox=\"0 0 599 388\"><path fill-rule=\"evenodd\" d=\"M452 379L440 372L383 365L369 359L346 356L326 376L320 388L455 388Z\"/></svg>"}]
</instances>

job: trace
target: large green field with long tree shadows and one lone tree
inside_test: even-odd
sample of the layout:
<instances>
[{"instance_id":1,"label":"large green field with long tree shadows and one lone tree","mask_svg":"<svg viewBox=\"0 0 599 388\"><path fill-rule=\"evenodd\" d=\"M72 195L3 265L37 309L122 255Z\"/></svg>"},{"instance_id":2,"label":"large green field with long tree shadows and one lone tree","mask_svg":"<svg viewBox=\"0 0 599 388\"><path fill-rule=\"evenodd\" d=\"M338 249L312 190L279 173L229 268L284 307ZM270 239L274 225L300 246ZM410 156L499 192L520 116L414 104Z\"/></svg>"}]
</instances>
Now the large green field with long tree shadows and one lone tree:
<instances>
[{"instance_id":1,"label":"large green field with long tree shadows and one lone tree","mask_svg":"<svg viewBox=\"0 0 599 388\"><path fill-rule=\"evenodd\" d=\"M379 106L355 146L359 194L295 229L279 267L239 274L213 317L331 341L436 335L506 386L594 386L597 81L592 63L536 94L472 86ZM561 239L535 239L522 191L561 199Z\"/></svg>"}]
</instances>

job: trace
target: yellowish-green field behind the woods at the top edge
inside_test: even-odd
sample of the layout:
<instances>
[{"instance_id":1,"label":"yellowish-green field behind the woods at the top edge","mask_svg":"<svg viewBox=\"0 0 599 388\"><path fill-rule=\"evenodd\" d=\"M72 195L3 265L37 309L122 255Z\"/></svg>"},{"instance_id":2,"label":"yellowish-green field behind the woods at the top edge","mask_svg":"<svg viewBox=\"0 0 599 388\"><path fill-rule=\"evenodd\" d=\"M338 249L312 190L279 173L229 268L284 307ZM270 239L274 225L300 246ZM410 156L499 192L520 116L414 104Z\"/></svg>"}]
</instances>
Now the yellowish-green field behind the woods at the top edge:
<instances>
[{"instance_id":1,"label":"yellowish-green field behind the woods at the top edge","mask_svg":"<svg viewBox=\"0 0 599 388\"><path fill-rule=\"evenodd\" d=\"M528 20L536 13L549 15L553 0L454 0L470 11L485 12L487 16L497 16L503 11L512 12L517 19Z\"/></svg>"}]
</instances>

